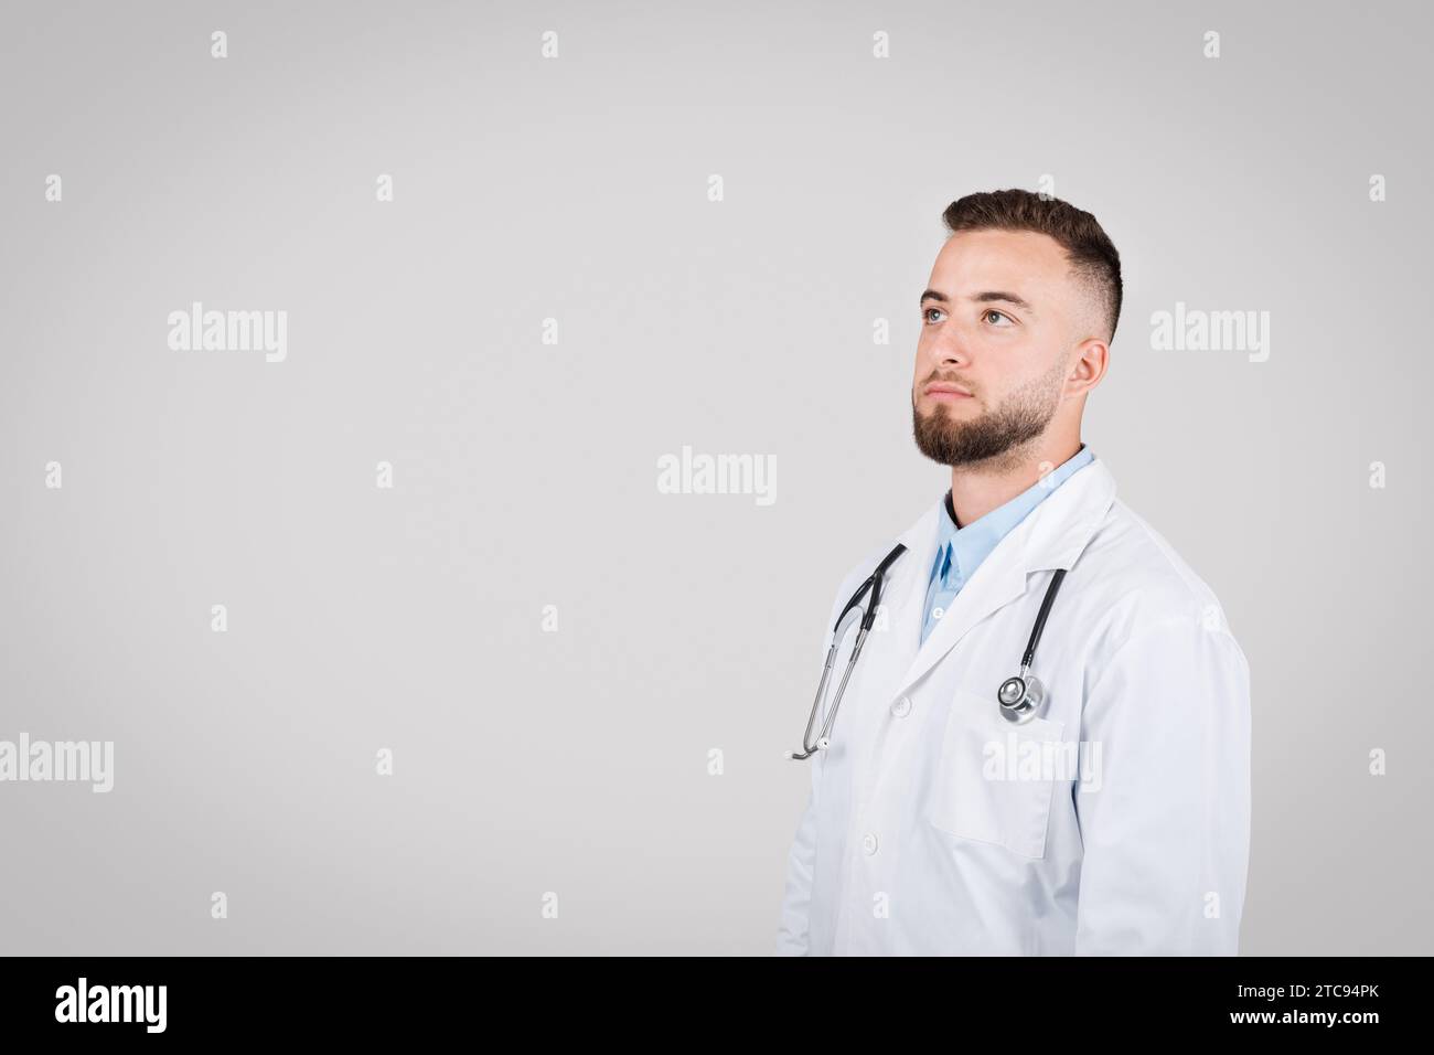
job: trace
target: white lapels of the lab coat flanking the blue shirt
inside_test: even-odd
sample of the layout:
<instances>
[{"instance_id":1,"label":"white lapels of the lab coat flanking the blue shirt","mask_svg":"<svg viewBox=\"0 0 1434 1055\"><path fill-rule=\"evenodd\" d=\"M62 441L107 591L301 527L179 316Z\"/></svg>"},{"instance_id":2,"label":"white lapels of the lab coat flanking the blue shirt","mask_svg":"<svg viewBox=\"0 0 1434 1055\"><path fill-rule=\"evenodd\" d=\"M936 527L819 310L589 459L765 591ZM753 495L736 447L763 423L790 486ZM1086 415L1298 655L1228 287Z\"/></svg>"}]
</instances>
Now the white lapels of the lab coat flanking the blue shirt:
<instances>
[{"instance_id":1,"label":"white lapels of the lab coat flanking the blue shirt","mask_svg":"<svg viewBox=\"0 0 1434 1055\"><path fill-rule=\"evenodd\" d=\"M926 581L922 580L909 593L915 597L916 617L903 609L901 626L896 629L911 642L913 659L896 692L905 692L942 656L954 649L971 627L991 613L1005 607L1027 590L1027 577L1045 568L1070 568L1080 557L1096 528L1106 518L1116 497L1116 481L1110 469L1098 458L1076 472L1048 495L1031 514L1017 524L1002 538L989 555L981 561L971 580L951 603L951 609L932 629L931 636L918 649L921 622L925 616ZM945 495L936 511L945 515ZM922 570L929 573L935 560L936 520L931 517L931 540L923 554ZM1012 643L1015 659L1025 642Z\"/></svg>"}]
</instances>

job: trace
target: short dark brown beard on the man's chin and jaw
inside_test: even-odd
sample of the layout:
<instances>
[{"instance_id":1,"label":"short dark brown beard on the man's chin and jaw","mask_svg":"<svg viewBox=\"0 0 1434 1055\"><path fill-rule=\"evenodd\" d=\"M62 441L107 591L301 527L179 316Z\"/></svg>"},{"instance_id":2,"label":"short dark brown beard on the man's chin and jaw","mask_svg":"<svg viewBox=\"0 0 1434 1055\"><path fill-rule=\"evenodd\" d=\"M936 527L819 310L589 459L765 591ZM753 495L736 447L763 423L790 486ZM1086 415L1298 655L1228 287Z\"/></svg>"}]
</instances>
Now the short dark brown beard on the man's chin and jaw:
<instances>
[{"instance_id":1,"label":"short dark brown beard on the man's chin and jaw","mask_svg":"<svg viewBox=\"0 0 1434 1055\"><path fill-rule=\"evenodd\" d=\"M1065 363L1057 362L1054 369L1022 385L999 406L968 421L954 416L946 403L936 403L922 416L913 392L911 415L916 448L941 465L998 459L1045 432L1060 408L1064 376ZM932 380L938 380L936 375L922 383Z\"/></svg>"}]
</instances>

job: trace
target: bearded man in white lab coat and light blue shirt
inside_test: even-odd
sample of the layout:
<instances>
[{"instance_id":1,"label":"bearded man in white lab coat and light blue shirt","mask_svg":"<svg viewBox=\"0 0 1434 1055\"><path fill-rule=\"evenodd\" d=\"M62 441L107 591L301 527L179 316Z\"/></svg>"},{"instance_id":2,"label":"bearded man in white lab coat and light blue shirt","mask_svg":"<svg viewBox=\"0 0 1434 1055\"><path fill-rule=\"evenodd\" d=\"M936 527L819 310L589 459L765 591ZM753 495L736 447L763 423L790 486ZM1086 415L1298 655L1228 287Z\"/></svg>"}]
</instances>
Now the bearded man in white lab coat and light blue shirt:
<instances>
[{"instance_id":1,"label":"bearded man in white lab coat and light blue shirt","mask_svg":"<svg viewBox=\"0 0 1434 1055\"><path fill-rule=\"evenodd\" d=\"M1080 438L1120 257L1093 215L1025 191L945 221L912 415L951 489L896 540L829 744L803 762L777 952L1233 955L1249 667ZM891 548L852 568L827 627ZM1028 672L1044 695L1002 708L1060 571Z\"/></svg>"}]
</instances>

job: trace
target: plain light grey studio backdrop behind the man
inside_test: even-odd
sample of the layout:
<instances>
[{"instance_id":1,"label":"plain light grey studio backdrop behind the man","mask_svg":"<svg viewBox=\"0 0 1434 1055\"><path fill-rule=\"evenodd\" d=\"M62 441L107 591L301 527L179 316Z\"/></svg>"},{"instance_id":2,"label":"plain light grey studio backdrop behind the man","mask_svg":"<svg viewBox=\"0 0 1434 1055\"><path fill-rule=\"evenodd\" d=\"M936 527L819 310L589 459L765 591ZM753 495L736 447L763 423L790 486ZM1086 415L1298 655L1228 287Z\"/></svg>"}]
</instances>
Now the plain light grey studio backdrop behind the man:
<instances>
[{"instance_id":1,"label":"plain light grey studio backdrop behind the man","mask_svg":"<svg viewBox=\"0 0 1434 1055\"><path fill-rule=\"evenodd\" d=\"M1253 670L1242 952L1434 952L1430 30L6 4L0 739L113 739L116 784L0 784L0 950L767 953L836 583L948 482L941 211L1050 174L1126 268L1086 442ZM287 310L287 362L169 350L194 300ZM1152 352L1177 300L1271 311L1269 360ZM776 455L776 504L658 494L684 444Z\"/></svg>"}]
</instances>

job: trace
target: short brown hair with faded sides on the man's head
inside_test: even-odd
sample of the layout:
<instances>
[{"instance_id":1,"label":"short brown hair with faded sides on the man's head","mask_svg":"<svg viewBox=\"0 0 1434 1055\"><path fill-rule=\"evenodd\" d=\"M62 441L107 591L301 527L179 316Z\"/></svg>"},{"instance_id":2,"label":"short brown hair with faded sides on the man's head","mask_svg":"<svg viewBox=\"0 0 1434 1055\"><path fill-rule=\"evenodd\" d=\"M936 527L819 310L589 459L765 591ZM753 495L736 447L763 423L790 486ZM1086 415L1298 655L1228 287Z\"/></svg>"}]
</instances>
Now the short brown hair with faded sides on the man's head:
<instances>
[{"instance_id":1,"label":"short brown hair with faded sides on the man's head","mask_svg":"<svg viewBox=\"0 0 1434 1055\"><path fill-rule=\"evenodd\" d=\"M1035 231L1050 235L1065 250L1078 280L1087 283L1106 314L1107 336L1116 336L1120 322L1120 254L1090 212L1058 198L1043 198L1031 191L982 191L968 194L946 207L942 220L952 234L958 231Z\"/></svg>"}]
</instances>

